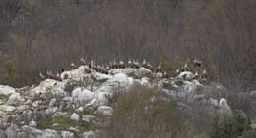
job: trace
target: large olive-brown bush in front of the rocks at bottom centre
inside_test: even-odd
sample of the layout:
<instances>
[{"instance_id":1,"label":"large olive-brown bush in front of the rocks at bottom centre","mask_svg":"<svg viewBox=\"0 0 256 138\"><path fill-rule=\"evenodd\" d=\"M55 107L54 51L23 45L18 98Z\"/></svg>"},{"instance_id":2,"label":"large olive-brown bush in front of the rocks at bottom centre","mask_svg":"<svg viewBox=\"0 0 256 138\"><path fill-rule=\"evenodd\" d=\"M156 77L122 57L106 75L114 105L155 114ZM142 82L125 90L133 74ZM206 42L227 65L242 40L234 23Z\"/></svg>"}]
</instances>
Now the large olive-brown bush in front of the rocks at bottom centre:
<instances>
[{"instance_id":1,"label":"large olive-brown bush in front of the rocks at bottom centre","mask_svg":"<svg viewBox=\"0 0 256 138\"><path fill-rule=\"evenodd\" d=\"M110 138L167 138L176 134L177 104L157 90L137 88L118 99L105 131Z\"/></svg>"}]
</instances>

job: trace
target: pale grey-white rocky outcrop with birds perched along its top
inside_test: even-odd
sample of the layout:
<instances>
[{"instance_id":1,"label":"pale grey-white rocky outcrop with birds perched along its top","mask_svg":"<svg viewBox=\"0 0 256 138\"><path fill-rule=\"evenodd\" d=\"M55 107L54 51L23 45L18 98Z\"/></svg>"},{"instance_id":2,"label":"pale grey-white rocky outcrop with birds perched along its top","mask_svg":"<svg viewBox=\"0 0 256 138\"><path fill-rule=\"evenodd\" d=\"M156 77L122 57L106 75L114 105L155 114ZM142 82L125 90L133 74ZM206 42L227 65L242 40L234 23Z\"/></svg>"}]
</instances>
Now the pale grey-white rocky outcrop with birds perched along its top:
<instances>
[{"instance_id":1,"label":"pale grey-white rocky outcrop with birds perched along its top","mask_svg":"<svg viewBox=\"0 0 256 138\"><path fill-rule=\"evenodd\" d=\"M109 75L85 69L90 70L81 66L64 71L61 82L46 79L37 86L20 89L0 85L0 96L4 97L0 99L0 137L93 138L96 131L82 126L102 125L98 117L107 119L113 113L109 100L137 86L158 88L164 98L177 99L185 110L196 103L208 105L210 114L232 115L224 86L201 84L192 72L162 78L162 74L145 68L111 69ZM253 98L256 94L249 95Z\"/></svg>"}]
</instances>

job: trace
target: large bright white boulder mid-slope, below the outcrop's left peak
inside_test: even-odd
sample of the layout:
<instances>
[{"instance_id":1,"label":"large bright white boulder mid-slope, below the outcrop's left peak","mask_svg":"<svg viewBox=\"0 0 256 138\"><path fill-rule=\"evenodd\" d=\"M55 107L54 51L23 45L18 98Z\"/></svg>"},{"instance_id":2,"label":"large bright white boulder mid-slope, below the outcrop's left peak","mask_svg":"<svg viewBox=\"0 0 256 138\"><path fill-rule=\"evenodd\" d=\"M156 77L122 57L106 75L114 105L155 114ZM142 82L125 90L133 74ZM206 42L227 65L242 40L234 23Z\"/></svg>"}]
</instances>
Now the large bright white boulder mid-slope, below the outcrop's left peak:
<instances>
[{"instance_id":1,"label":"large bright white boulder mid-slope, below the outcrop's left peak","mask_svg":"<svg viewBox=\"0 0 256 138\"><path fill-rule=\"evenodd\" d=\"M94 93L83 88L76 88L72 91L72 97L74 102L78 106L83 106L89 103L92 99L94 99Z\"/></svg>"}]
</instances>

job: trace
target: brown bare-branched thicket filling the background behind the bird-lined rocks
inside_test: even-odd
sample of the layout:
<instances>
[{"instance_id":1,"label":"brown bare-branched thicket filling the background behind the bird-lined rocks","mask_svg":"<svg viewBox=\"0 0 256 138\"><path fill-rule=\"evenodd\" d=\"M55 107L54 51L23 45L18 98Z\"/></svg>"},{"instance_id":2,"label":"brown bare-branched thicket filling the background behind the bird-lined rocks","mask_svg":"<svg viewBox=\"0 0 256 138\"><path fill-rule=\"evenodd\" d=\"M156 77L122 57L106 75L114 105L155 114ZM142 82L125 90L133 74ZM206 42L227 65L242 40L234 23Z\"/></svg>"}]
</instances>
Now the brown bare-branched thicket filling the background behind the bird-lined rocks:
<instances>
[{"instance_id":1,"label":"brown bare-branched thicket filling the background behind the bird-lined rocks","mask_svg":"<svg viewBox=\"0 0 256 138\"><path fill-rule=\"evenodd\" d=\"M171 69L197 58L225 85L250 88L255 7L255 0L1 0L1 63L12 62L18 74L2 64L1 83L29 85L39 71L85 55L100 63L161 59Z\"/></svg>"}]
</instances>

